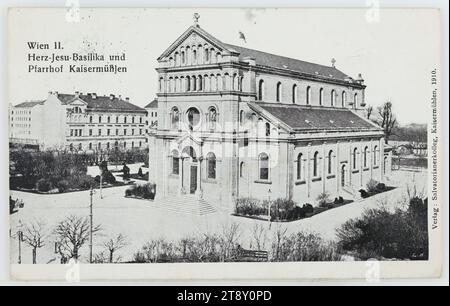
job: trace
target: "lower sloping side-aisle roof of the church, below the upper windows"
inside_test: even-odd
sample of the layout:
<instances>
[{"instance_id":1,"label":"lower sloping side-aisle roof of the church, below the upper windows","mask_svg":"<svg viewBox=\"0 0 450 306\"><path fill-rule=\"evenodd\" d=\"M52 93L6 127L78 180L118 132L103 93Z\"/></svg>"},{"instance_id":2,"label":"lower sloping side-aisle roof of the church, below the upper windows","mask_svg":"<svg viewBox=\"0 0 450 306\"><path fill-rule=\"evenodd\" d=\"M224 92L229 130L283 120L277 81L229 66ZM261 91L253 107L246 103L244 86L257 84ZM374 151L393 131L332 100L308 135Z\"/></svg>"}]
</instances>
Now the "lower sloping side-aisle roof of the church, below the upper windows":
<instances>
[{"instance_id":1,"label":"lower sloping side-aisle roof of the church, below the upper windows","mask_svg":"<svg viewBox=\"0 0 450 306\"><path fill-rule=\"evenodd\" d=\"M252 105L252 104L251 104ZM294 130L379 130L351 110L279 103L254 103Z\"/></svg>"}]
</instances>

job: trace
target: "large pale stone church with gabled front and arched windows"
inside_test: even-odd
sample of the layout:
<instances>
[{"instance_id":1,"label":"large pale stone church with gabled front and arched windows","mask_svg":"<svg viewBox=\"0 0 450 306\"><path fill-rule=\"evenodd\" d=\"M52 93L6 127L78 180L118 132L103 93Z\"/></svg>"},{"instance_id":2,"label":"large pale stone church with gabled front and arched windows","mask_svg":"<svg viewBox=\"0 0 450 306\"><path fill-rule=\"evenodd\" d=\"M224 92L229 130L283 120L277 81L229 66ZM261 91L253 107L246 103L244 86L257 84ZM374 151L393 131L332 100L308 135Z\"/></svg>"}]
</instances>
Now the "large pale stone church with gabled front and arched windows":
<instances>
[{"instance_id":1,"label":"large pale stone church with gabled front and arched windows","mask_svg":"<svg viewBox=\"0 0 450 306\"><path fill-rule=\"evenodd\" d=\"M198 24L158 58L157 197L233 210L239 197L349 198L389 175L383 131L362 116L364 80L223 43Z\"/></svg>"}]
</instances>

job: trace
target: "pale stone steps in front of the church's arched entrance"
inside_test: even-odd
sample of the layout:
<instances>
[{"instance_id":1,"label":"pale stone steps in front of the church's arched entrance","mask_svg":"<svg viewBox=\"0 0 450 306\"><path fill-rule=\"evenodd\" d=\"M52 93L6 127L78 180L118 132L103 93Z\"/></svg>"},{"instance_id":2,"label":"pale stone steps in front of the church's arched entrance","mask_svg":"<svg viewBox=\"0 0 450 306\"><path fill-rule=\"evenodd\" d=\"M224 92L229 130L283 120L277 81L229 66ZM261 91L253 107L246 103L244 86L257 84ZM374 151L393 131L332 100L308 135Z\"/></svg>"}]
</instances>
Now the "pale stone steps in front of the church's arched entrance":
<instances>
[{"instance_id":1,"label":"pale stone steps in front of the church's arched entrance","mask_svg":"<svg viewBox=\"0 0 450 306\"><path fill-rule=\"evenodd\" d=\"M217 213L217 209L205 200L199 200L193 195L169 196L156 199L152 207L164 209L173 213L204 216Z\"/></svg>"}]
</instances>

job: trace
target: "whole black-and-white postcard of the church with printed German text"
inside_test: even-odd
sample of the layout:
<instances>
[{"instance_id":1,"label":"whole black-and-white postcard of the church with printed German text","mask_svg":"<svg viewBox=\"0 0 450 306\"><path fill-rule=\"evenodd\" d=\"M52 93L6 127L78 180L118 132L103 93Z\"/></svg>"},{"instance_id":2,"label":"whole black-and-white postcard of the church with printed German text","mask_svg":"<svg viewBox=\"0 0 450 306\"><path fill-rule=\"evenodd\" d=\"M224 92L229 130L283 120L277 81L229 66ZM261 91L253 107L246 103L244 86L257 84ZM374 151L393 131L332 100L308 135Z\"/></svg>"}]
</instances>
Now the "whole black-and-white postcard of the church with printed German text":
<instances>
[{"instance_id":1,"label":"whole black-and-white postcard of the church with printed German text","mask_svg":"<svg viewBox=\"0 0 450 306\"><path fill-rule=\"evenodd\" d=\"M439 9L7 17L12 278L440 275Z\"/></svg>"}]
</instances>

